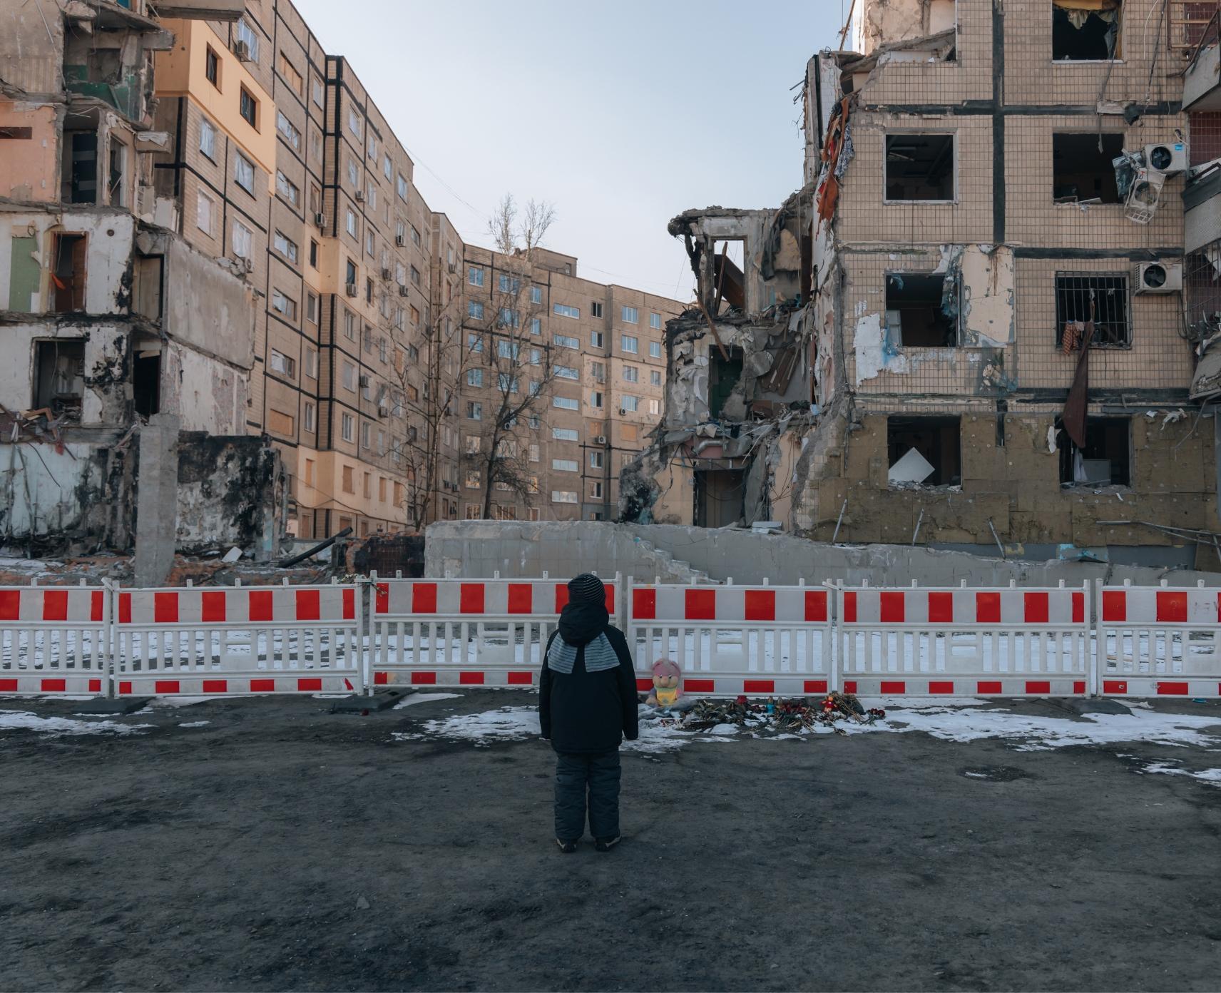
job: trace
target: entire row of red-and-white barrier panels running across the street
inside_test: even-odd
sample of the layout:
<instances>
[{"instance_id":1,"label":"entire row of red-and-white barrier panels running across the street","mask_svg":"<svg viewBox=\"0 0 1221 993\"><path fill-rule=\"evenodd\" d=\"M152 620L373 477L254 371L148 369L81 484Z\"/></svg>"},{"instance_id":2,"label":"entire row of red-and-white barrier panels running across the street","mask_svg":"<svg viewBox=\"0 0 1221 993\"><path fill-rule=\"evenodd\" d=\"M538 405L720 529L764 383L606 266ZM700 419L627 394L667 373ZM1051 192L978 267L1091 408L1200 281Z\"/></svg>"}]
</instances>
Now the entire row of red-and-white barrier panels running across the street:
<instances>
[{"instance_id":1,"label":"entire row of red-and-white barrier panels running across the street","mask_svg":"<svg viewBox=\"0 0 1221 993\"><path fill-rule=\"evenodd\" d=\"M1221 590L607 584L637 685L697 696L1221 696ZM0 694L534 686L568 580L0 587ZM1093 620L1092 620L1093 613Z\"/></svg>"}]
</instances>

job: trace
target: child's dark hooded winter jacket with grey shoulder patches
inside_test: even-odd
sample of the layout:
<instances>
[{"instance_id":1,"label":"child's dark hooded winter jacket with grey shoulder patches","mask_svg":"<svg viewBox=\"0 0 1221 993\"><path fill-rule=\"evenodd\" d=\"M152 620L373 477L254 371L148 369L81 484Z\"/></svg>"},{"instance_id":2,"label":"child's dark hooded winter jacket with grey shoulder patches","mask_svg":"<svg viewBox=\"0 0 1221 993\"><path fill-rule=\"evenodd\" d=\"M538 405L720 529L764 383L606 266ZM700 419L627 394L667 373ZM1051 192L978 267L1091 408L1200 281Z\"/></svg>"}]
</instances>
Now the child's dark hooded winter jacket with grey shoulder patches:
<instances>
[{"instance_id":1,"label":"child's dark hooded winter jacket with grey shoulder patches","mask_svg":"<svg viewBox=\"0 0 1221 993\"><path fill-rule=\"evenodd\" d=\"M601 603L569 603L559 616L557 634L579 646L571 673L556 672L543 656L538 679L538 724L542 737L559 752L596 755L635 741L640 733L636 710L636 673L623 631L613 627ZM585 671L585 646L600 634L619 657L619 664L602 672Z\"/></svg>"}]
</instances>

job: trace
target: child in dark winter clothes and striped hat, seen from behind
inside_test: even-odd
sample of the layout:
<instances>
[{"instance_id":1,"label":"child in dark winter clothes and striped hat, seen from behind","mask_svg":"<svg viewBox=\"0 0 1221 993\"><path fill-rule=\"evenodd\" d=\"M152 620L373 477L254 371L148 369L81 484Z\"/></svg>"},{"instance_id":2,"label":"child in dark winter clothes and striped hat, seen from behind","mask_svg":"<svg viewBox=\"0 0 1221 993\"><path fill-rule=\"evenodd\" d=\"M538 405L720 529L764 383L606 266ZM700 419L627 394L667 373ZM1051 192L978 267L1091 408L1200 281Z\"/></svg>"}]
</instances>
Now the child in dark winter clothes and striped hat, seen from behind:
<instances>
[{"instance_id":1,"label":"child in dark winter clothes and striped hat, seen from behind","mask_svg":"<svg viewBox=\"0 0 1221 993\"><path fill-rule=\"evenodd\" d=\"M610 624L602 580L584 573L547 641L538 724L556 750L556 844L575 851L590 833L598 851L619 842L619 745L640 733L636 673L623 631Z\"/></svg>"}]
</instances>

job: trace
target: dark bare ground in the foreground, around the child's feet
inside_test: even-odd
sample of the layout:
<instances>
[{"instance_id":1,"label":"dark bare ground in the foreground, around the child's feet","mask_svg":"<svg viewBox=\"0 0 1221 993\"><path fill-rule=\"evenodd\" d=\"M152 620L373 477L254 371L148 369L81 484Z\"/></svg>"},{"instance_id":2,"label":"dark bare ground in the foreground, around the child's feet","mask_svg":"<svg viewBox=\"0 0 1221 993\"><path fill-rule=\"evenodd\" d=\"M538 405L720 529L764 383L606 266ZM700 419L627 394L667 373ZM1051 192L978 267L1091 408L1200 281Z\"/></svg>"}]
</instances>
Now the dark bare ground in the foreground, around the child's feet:
<instances>
[{"instance_id":1,"label":"dark bare ground in the foreground, around the child's feet","mask_svg":"<svg viewBox=\"0 0 1221 993\"><path fill-rule=\"evenodd\" d=\"M123 735L0 732L0 987L1221 982L1221 789L1142 773L1216 755L924 733L625 754L625 840L563 855L546 743L392 737L534 700L225 700ZM1184 706L1221 735L1221 707Z\"/></svg>"}]
</instances>

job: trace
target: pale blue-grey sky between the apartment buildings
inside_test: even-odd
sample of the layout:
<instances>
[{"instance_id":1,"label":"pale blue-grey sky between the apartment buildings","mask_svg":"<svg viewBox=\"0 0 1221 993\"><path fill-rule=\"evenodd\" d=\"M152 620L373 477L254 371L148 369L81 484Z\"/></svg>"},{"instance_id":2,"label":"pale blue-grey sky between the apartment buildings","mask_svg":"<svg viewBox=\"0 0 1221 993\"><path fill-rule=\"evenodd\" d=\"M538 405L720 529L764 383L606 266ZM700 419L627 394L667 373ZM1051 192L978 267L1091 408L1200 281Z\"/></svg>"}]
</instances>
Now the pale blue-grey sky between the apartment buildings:
<instances>
[{"instance_id":1,"label":"pale blue-grey sky between the apartment buildings","mask_svg":"<svg viewBox=\"0 0 1221 993\"><path fill-rule=\"evenodd\" d=\"M806 61L841 0L297 0L347 56L463 238L503 193L549 200L579 275L686 299L665 224L801 184Z\"/></svg>"}]
</instances>

